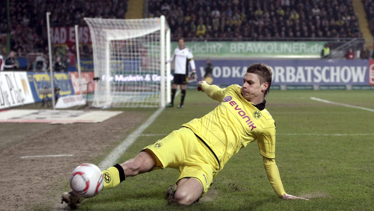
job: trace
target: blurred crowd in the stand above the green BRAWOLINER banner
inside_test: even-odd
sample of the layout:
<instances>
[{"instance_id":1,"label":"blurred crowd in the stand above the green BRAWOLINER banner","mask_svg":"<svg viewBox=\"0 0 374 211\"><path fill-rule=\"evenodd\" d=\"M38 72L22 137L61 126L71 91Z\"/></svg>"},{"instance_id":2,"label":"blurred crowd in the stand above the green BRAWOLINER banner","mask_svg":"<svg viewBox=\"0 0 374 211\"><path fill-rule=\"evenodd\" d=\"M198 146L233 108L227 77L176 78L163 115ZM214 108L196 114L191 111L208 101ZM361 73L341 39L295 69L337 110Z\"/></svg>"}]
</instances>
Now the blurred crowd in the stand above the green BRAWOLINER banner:
<instances>
[{"instance_id":1,"label":"blurred crowd in the stand above the green BRAWOLINER banner","mask_svg":"<svg viewBox=\"0 0 374 211\"><path fill-rule=\"evenodd\" d=\"M149 0L148 17L160 15L190 40L362 37L346 0Z\"/></svg>"}]
</instances>

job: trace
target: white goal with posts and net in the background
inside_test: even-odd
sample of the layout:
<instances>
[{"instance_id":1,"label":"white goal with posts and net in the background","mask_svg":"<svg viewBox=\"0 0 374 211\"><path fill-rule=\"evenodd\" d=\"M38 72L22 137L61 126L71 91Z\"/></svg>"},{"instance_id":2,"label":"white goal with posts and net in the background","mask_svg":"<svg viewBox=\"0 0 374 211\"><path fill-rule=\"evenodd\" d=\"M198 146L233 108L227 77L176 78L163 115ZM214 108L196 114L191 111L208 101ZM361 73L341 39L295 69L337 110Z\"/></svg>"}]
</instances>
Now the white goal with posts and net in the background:
<instances>
[{"instance_id":1,"label":"white goal with posts and net in the background","mask_svg":"<svg viewBox=\"0 0 374 211\"><path fill-rule=\"evenodd\" d=\"M165 16L84 18L98 81L92 106L159 107L170 101L170 29ZM168 98L168 99L166 99Z\"/></svg>"}]
</instances>

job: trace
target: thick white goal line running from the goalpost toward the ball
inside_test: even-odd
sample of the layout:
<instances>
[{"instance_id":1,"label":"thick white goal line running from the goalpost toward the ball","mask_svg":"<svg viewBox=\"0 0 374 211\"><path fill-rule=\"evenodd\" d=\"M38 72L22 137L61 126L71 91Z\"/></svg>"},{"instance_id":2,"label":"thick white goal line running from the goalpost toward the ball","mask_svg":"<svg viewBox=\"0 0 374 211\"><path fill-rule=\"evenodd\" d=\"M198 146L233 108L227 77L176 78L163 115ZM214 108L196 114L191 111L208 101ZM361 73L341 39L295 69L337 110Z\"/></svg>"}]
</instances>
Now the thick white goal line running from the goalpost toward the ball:
<instances>
[{"instance_id":1,"label":"thick white goal line running from the goalpost toward the ball","mask_svg":"<svg viewBox=\"0 0 374 211\"><path fill-rule=\"evenodd\" d=\"M156 112L154 112L144 124L142 124L137 130L132 132L120 145L114 148L113 151L98 165L100 169L107 169L110 166L116 164L117 159L122 156L122 154L126 151L126 149L142 134L142 132L151 124L154 120L156 120L157 116L164 110L165 108L159 108Z\"/></svg>"}]
</instances>

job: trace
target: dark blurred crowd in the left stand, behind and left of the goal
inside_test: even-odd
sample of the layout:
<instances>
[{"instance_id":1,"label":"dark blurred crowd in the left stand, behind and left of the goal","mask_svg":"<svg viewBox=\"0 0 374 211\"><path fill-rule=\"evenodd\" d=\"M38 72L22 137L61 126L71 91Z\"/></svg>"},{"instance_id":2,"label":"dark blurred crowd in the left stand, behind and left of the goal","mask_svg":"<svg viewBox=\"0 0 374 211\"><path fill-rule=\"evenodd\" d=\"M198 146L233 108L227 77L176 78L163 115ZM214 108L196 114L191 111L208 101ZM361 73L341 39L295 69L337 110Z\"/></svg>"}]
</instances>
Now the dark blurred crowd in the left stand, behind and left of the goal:
<instances>
[{"instance_id":1,"label":"dark blurred crowd in the left stand, behind and left of the goal","mask_svg":"<svg viewBox=\"0 0 374 211\"><path fill-rule=\"evenodd\" d=\"M86 25L84 17L125 18L128 0L10 0L10 49L17 57L28 52L48 54L46 12L51 12L50 26ZM0 1L0 54L6 55L7 3ZM54 49L54 57L66 60L69 49ZM71 49L70 49L71 50ZM91 45L80 51L85 57L92 55ZM76 53L72 51L72 53ZM82 56L81 55L81 56Z\"/></svg>"}]
</instances>

